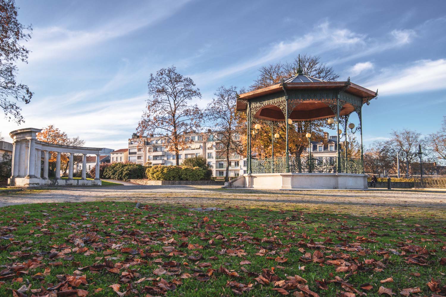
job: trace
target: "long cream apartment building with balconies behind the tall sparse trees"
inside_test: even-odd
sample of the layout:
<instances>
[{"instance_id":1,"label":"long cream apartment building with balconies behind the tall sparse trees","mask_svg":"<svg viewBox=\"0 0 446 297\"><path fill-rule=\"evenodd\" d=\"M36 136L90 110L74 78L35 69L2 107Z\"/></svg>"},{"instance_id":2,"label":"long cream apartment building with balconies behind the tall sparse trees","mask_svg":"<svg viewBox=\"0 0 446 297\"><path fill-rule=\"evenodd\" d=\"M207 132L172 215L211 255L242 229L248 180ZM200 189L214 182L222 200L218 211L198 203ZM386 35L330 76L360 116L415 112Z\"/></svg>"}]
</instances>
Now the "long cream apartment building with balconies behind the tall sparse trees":
<instances>
[{"instance_id":1,"label":"long cream apartment building with balconies behind the tall sparse trees","mask_svg":"<svg viewBox=\"0 0 446 297\"><path fill-rule=\"evenodd\" d=\"M190 133L184 135L187 147L179 151L179 164L184 159L195 156L203 156L212 169L213 176L225 176L226 167L229 167L229 176L239 176L246 173L246 158L240 155L231 156L227 164L221 153L221 143L212 136L206 138L202 133ZM136 134L128 140L128 160L130 162L145 165L150 161L152 165L176 165L176 155L166 149L168 139L163 137L142 137Z\"/></svg>"}]
</instances>

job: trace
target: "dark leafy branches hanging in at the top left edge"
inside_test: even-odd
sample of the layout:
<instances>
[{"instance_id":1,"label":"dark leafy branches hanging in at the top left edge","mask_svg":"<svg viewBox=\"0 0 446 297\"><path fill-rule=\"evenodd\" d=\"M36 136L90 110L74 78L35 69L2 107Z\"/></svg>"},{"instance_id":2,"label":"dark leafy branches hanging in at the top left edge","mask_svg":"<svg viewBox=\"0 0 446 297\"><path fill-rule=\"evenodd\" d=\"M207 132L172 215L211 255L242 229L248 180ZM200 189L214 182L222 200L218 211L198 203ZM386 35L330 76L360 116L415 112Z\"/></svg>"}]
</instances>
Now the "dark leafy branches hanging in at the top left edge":
<instances>
[{"instance_id":1,"label":"dark leafy branches hanging in at the top left edge","mask_svg":"<svg viewBox=\"0 0 446 297\"><path fill-rule=\"evenodd\" d=\"M17 61L27 62L29 50L23 41L31 38L31 26L25 27L17 20L14 0L0 0L0 107L5 118L20 124L24 122L17 102L28 104L33 93L27 85L18 83Z\"/></svg>"}]
</instances>

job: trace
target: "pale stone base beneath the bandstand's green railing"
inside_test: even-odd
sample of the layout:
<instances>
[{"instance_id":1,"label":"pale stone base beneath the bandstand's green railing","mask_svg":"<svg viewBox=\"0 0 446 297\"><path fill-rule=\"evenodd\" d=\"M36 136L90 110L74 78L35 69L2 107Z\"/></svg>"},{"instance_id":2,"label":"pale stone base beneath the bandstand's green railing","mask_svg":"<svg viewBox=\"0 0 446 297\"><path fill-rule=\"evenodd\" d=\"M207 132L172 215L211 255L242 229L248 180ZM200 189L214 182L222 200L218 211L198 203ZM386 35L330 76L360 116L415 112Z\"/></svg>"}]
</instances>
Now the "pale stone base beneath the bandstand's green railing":
<instances>
[{"instance_id":1,"label":"pale stone base beneath the bandstand's green railing","mask_svg":"<svg viewBox=\"0 0 446 297\"><path fill-rule=\"evenodd\" d=\"M225 187L253 189L367 189L366 174L256 173L241 175Z\"/></svg>"}]
</instances>

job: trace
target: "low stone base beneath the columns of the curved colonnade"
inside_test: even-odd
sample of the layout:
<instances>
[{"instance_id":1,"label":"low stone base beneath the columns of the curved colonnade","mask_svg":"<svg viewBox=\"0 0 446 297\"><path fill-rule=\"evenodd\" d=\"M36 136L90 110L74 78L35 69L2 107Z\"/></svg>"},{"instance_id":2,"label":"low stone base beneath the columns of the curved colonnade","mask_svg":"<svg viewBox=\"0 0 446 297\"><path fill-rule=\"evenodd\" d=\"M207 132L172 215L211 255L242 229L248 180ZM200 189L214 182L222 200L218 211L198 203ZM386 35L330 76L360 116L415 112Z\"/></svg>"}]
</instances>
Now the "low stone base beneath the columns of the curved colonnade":
<instances>
[{"instance_id":1,"label":"low stone base beneath the columns of the curved colonnade","mask_svg":"<svg viewBox=\"0 0 446 297\"><path fill-rule=\"evenodd\" d=\"M100 186L100 179L42 179L37 177L15 177L8 179L8 185L14 187L40 186Z\"/></svg>"}]
</instances>

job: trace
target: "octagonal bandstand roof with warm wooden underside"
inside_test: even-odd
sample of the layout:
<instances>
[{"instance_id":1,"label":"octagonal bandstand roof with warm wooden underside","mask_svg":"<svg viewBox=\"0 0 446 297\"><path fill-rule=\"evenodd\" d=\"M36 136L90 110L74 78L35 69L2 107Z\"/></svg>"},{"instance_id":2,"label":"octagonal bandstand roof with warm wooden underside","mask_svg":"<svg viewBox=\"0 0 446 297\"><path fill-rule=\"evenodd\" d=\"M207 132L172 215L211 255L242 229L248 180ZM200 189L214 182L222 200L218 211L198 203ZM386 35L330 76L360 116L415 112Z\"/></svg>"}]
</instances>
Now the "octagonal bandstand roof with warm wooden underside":
<instances>
[{"instance_id":1,"label":"octagonal bandstand roof with warm wooden underside","mask_svg":"<svg viewBox=\"0 0 446 297\"><path fill-rule=\"evenodd\" d=\"M360 110L361 106L375 98L377 93L347 81L323 81L299 73L281 83L240 94L237 110L246 111L251 102L253 118L285 121L285 106L289 118L305 121L331 118L335 115L336 100L339 115ZM288 98L288 99L285 99Z\"/></svg>"}]
</instances>

